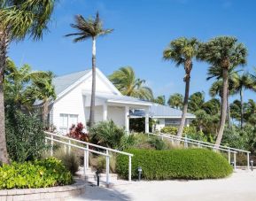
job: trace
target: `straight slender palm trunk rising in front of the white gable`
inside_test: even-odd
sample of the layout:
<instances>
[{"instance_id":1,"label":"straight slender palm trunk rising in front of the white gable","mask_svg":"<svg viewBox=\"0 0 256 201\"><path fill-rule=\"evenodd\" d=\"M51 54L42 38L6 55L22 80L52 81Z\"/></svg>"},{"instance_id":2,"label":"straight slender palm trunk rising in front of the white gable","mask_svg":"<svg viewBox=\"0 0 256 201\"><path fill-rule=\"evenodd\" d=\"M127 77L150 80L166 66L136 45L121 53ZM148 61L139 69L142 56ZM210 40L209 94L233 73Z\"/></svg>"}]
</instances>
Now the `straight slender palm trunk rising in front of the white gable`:
<instances>
[{"instance_id":1,"label":"straight slender palm trunk rising in front of the white gable","mask_svg":"<svg viewBox=\"0 0 256 201\"><path fill-rule=\"evenodd\" d=\"M89 127L95 123L95 91L96 91L96 38L92 38L92 83L91 83L91 97L90 97L90 111L89 111Z\"/></svg>"}]
</instances>

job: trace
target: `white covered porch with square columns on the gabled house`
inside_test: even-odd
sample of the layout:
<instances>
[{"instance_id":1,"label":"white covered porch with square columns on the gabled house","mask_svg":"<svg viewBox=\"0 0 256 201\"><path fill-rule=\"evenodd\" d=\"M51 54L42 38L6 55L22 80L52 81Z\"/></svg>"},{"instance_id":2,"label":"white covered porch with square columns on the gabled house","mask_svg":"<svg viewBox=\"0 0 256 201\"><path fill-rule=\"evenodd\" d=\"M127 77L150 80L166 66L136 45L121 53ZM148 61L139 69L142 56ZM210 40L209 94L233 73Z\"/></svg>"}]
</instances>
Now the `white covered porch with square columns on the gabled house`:
<instances>
[{"instance_id":1,"label":"white covered porch with square columns on the gabled house","mask_svg":"<svg viewBox=\"0 0 256 201\"><path fill-rule=\"evenodd\" d=\"M90 95L84 94L85 97L85 117L89 120ZM149 109L151 103L139 100L135 97L126 97L119 95L97 94L95 121L112 120L117 126L125 129L127 134L130 132L129 119L130 111L144 110L145 128L144 132L149 133Z\"/></svg>"}]
</instances>

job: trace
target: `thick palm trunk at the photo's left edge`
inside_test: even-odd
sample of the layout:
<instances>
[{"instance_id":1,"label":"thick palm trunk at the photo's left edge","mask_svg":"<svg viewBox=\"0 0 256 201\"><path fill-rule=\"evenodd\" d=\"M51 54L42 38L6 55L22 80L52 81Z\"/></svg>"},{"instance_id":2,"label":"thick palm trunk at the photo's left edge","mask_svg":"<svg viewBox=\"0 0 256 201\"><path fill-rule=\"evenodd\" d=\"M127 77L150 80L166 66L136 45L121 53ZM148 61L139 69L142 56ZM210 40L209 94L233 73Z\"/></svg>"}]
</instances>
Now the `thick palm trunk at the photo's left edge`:
<instances>
[{"instance_id":1,"label":"thick palm trunk at the photo's left edge","mask_svg":"<svg viewBox=\"0 0 256 201\"><path fill-rule=\"evenodd\" d=\"M7 34L0 30L0 161L9 163L6 139L5 139L5 122L4 122L4 68L6 66L7 48L9 40Z\"/></svg>"}]
</instances>

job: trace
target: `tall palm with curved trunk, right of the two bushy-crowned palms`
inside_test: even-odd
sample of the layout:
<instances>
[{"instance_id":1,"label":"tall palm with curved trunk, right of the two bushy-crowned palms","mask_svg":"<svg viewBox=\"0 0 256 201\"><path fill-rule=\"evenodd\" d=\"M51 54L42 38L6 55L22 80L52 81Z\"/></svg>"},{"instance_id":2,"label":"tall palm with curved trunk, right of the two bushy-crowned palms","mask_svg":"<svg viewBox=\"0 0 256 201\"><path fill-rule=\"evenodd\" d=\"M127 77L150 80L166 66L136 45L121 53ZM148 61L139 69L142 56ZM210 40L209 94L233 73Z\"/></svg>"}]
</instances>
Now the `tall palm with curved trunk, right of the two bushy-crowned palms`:
<instances>
[{"instance_id":1,"label":"tall palm with curved trunk, right of the two bushy-crowned palms","mask_svg":"<svg viewBox=\"0 0 256 201\"><path fill-rule=\"evenodd\" d=\"M221 125L216 146L221 144L227 116L227 98L229 88L229 70L246 63L247 50L244 44L237 43L237 38L220 36L207 43L199 44L198 59L205 60L211 66L221 66L222 96L221 96Z\"/></svg>"}]
</instances>

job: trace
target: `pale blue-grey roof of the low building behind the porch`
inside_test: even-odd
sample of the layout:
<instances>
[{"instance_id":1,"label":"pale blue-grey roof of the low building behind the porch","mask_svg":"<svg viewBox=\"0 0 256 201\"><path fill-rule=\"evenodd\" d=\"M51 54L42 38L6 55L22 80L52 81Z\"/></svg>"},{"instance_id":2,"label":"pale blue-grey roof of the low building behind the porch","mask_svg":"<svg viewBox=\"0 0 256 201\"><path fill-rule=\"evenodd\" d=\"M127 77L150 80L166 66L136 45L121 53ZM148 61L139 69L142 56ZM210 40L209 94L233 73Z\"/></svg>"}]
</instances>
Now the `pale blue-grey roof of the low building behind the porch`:
<instances>
[{"instance_id":1,"label":"pale blue-grey roof of the low building behind the porch","mask_svg":"<svg viewBox=\"0 0 256 201\"><path fill-rule=\"evenodd\" d=\"M182 111L171 108L162 104L152 104L149 109L149 114L153 118L182 118ZM143 117L144 110L136 110L130 113L131 116ZM194 114L187 113L186 118L196 118Z\"/></svg>"}]
</instances>

